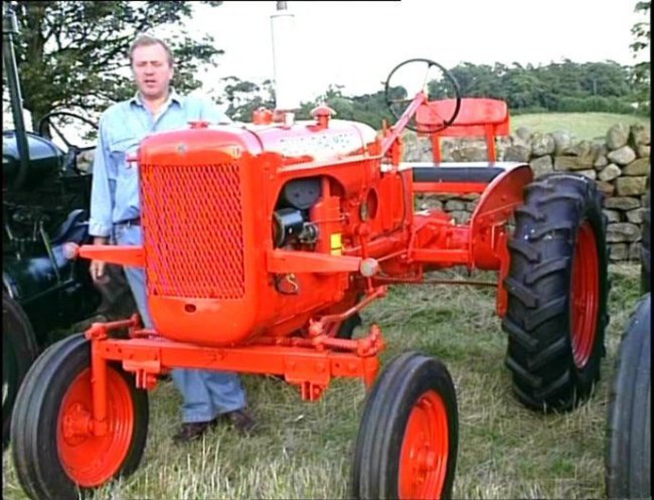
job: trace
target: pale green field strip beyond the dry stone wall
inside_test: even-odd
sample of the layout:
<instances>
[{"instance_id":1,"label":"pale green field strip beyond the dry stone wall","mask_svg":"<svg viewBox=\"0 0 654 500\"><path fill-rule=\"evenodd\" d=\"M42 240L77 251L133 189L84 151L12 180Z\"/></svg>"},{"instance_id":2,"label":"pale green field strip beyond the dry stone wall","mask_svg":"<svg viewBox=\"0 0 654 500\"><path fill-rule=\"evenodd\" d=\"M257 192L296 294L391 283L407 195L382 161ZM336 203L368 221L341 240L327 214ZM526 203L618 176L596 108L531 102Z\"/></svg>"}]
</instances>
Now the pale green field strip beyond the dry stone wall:
<instances>
[{"instance_id":1,"label":"pale green field strip beyond the dry stone wall","mask_svg":"<svg viewBox=\"0 0 654 500\"><path fill-rule=\"evenodd\" d=\"M511 131L527 127L532 132L548 133L567 130L576 139L604 139L611 126L622 122L627 125L642 124L649 128L649 118L615 113L536 113L511 116Z\"/></svg>"}]
</instances>

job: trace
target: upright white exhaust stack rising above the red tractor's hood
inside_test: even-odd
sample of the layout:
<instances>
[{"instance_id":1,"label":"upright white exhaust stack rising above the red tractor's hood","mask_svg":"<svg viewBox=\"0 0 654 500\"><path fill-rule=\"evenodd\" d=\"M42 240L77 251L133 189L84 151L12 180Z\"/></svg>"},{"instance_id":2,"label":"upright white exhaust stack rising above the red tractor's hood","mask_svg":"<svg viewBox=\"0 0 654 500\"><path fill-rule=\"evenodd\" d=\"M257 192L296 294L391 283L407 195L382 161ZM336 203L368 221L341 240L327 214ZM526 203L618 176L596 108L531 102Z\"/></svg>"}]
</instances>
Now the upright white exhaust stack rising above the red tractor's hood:
<instances>
[{"instance_id":1,"label":"upright white exhaust stack rising above the red tractor's hood","mask_svg":"<svg viewBox=\"0 0 654 500\"><path fill-rule=\"evenodd\" d=\"M273 35L273 72L275 75L275 111L292 122L293 111L300 108L294 75L296 60L295 16L288 12L286 2L277 2L277 12L270 16ZM288 116L290 115L290 116Z\"/></svg>"}]
</instances>

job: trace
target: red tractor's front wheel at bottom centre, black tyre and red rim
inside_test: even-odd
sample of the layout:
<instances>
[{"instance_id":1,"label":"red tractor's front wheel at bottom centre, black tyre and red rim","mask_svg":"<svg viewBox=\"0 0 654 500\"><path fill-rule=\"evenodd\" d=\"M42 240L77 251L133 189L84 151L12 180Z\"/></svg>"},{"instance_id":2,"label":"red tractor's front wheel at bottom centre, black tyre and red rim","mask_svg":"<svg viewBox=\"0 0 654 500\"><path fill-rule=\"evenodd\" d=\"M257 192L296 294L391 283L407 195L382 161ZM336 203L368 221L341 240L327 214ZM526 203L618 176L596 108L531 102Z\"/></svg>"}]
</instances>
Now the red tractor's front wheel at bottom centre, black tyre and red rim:
<instances>
[{"instance_id":1,"label":"red tractor's front wheel at bottom centre, black tyre and red rim","mask_svg":"<svg viewBox=\"0 0 654 500\"><path fill-rule=\"evenodd\" d=\"M452 378L434 358L394 358L373 386L354 443L350 497L448 498L458 447Z\"/></svg>"}]
</instances>

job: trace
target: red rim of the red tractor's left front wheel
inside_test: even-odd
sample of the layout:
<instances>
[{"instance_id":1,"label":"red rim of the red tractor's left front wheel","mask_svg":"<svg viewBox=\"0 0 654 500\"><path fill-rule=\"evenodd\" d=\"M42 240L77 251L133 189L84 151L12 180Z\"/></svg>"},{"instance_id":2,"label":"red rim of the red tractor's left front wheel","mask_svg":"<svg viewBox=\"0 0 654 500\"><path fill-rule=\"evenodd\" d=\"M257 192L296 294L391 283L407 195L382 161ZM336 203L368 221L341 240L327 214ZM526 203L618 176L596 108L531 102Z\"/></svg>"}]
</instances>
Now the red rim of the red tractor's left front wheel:
<instances>
[{"instance_id":1,"label":"red rim of the red tractor's left front wheel","mask_svg":"<svg viewBox=\"0 0 654 500\"><path fill-rule=\"evenodd\" d=\"M75 378L63 397L57 422L61 465L80 486L99 486L114 476L129 452L134 407L128 383L107 368L107 433L96 436L92 422L91 369Z\"/></svg>"}]
</instances>

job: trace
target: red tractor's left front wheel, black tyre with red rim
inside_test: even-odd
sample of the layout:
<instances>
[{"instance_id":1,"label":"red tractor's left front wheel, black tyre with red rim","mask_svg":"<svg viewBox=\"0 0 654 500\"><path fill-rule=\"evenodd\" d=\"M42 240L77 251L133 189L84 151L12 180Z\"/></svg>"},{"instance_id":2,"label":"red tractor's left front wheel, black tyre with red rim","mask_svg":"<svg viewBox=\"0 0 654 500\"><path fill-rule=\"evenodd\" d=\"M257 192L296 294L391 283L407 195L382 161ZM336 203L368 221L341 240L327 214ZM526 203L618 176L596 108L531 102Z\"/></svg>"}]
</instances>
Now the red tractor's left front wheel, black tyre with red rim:
<instances>
[{"instance_id":1,"label":"red tractor's left front wheel, black tyre with red rim","mask_svg":"<svg viewBox=\"0 0 654 500\"><path fill-rule=\"evenodd\" d=\"M12 457L33 499L77 499L137 467L148 429L148 396L120 365L107 367L107 432L91 429L90 343L52 344L24 380L11 424Z\"/></svg>"}]
</instances>

